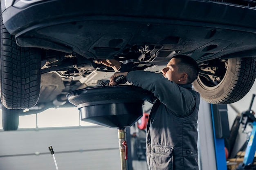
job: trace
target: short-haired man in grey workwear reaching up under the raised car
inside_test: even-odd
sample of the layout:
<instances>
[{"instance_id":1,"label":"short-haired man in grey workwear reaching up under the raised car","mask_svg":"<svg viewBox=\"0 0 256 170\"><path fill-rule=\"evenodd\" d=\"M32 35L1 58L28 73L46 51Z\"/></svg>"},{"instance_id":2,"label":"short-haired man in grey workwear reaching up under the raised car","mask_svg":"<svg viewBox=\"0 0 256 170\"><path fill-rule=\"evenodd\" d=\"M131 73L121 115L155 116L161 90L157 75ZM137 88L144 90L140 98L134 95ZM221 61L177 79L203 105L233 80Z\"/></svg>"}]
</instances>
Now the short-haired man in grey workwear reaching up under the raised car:
<instances>
[{"instance_id":1,"label":"short-haired man in grey workwear reaching up under the raised car","mask_svg":"<svg viewBox=\"0 0 256 170\"><path fill-rule=\"evenodd\" d=\"M198 65L191 57L176 55L162 69L162 75L150 71L132 71L115 60L101 60L116 72L109 85L124 75L132 85L153 93L146 135L149 170L198 170L198 109L200 94L192 90Z\"/></svg>"}]
</instances>

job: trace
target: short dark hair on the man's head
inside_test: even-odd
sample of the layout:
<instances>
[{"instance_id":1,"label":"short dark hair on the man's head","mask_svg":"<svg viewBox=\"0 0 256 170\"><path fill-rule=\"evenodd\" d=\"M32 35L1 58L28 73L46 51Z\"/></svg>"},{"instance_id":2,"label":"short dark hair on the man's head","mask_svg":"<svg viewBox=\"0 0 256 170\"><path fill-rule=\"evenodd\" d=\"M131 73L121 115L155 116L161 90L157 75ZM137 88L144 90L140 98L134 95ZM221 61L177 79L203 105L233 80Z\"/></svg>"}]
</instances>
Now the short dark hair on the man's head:
<instances>
[{"instance_id":1,"label":"short dark hair on the man's head","mask_svg":"<svg viewBox=\"0 0 256 170\"><path fill-rule=\"evenodd\" d=\"M198 77L198 64L195 60L186 55L175 55L173 58L179 59L180 62L177 63L178 71L187 73L188 75L188 84L195 81L196 77Z\"/></svg>"}]
</instances>

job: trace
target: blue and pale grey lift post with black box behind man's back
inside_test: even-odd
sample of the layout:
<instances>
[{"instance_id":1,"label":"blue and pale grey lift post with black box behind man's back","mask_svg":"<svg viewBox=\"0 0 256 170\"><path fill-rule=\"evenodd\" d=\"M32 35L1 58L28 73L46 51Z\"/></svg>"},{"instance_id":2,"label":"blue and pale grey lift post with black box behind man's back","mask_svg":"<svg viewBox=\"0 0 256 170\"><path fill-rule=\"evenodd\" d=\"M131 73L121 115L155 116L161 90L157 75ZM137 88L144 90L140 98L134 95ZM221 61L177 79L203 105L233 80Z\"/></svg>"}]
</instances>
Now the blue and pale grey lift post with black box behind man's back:
<instances>
[{"instance_id":1,"label":"blue and pale grey lift post with black box behind man's back","mask_svg":"<svg viewBox=\"0 0 256 170\"><path fill-rule=\"evenodd\" d=\"M227 169L224 138L229 137L227 105L200 100L198 111L199 169Z\"/></svg>"}]
</instances>

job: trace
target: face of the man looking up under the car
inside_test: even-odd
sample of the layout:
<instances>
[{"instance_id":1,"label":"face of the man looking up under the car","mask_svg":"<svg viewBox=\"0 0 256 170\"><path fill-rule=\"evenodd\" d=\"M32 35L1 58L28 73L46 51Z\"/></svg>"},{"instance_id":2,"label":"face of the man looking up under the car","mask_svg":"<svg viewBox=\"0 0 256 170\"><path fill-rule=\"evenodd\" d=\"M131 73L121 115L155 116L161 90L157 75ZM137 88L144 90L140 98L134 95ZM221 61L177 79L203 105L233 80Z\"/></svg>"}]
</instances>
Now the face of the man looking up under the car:
<instances>
[{"instance_id":1,"label":"face of the man looking up under the car","mask_svg":"<svg viewBox=\"0 0 256 170\"><path fill-rule=\"evenodd\" d=\"M163 76L168 80L171 80L176 84L180 84L179 79L181 78L182 73L178 73L177 62L179 62L179 59L172 58L168 62L167 66L162 69L162 73Z\"/></svg>"}]
</instances>

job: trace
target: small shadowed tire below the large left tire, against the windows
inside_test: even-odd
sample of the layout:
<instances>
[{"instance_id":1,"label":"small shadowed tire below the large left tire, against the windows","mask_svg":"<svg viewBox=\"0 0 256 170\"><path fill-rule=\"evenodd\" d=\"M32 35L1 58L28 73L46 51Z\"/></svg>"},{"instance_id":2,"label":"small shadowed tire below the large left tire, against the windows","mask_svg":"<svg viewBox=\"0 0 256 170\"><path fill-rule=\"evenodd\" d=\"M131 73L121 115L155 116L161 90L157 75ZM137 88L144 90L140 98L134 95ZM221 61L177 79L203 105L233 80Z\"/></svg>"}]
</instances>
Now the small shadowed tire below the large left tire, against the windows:
<instances>
[{"instance_id":1,"label":"small shadowed tire below the large left tire, against the windows","mask_svg":"<svg viewBox=\"0 0 256 170\"><path fill-rule=\"evenodd\" d=\"M7 109L2 106L3 130L17 130L19 126L19 113L22 110Z\"/></svg>"}]
</instances>

